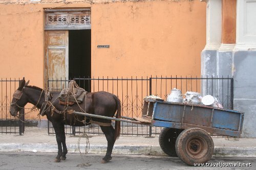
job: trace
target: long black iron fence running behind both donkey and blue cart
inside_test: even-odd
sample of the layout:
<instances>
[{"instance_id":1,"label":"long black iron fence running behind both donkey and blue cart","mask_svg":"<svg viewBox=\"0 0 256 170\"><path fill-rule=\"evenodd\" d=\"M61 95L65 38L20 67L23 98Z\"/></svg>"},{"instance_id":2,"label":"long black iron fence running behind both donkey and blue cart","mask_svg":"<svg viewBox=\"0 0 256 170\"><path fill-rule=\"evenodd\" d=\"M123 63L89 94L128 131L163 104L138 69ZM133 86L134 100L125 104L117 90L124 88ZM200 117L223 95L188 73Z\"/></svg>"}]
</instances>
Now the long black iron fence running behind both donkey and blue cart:
<instances>
[{"instance_id":1,"label":"long black iron fence running behind both donkey and blue cart","mask_svg":"<svg viewBox=\"0 0 256 170\"><path fill-rule=\"evenodd\" d=\"M122 105L122 116L139 117L142 114L143 99L147 95L157 95L166 100L170 90L180 89L199 92L202 96L210 94L217 98L218 102L226 109L233 109L233 79L214 77L132 77L132 78L74 78L76 83L88 92L108 91L118 96ZM51 91L59 91L67 88L70 80L48 80L48 88ZM114 124L114 123L113 123ZM157 135L161 131L159 127L148 127L130 123L121 123L121 135ZM103 134L97 125L87 127L66 126L66 134L76 133ZM48 133L54 134L51 123L48 122Z\"/></svg>"}]
</instances>

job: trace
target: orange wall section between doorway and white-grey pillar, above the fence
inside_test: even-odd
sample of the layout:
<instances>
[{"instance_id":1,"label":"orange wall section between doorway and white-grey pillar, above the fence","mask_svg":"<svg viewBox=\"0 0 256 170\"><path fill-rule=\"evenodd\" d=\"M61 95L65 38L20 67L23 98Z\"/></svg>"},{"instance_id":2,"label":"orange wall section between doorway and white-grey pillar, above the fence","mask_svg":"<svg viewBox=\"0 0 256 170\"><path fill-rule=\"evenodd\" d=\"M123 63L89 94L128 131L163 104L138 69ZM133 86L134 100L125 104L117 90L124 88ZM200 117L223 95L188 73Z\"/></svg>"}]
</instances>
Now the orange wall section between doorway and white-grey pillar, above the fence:
<instances>
[{"instance_id":1,"label":"orange wall section between doorway and white-grey pillar, above the fence","mask_svg":"<svg viewBox=\"0 0 256 170\"><path fill-rule=\"evenodd\" d=\"M200 1L94 4L92 76L200 76L205 9Z\"/></svg>"}]
</instances>

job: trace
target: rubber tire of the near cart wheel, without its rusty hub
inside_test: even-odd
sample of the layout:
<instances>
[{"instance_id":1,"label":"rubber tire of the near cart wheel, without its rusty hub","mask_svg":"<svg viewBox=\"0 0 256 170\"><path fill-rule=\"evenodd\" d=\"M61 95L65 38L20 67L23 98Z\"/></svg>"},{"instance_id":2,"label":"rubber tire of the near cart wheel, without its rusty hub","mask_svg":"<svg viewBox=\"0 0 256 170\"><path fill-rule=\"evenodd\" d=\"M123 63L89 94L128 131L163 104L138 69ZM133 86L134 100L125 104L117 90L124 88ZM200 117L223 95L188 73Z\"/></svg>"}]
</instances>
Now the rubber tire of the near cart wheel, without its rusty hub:
<instances>
[{"instance_id":1,"label":"rubber tire of the near cart wheel, without its rusty hub","mask_svg":"<svg viewBox=\"0 0 256 170\"><path fill-rule=\"evenodd\" d=\"M203 156L200 156L200 158L195 159L189 156L189 151L187 151L186 149L186 144L187 142L189 143L191 139L197 139L197 138L205 142L205 148L207 148L207 151L205 150L202 151L206 153L201 152L201 155ZM190 128L190 129L184 130L179 134L178 139L176 140L175 149L178 157L183 162L185 162L188 165L194 166L194 163L206 163L210 160L210 158L212 157L212 154L214 154L214 141L205 130L200 128Z\"/></svg>"}]
</instances>

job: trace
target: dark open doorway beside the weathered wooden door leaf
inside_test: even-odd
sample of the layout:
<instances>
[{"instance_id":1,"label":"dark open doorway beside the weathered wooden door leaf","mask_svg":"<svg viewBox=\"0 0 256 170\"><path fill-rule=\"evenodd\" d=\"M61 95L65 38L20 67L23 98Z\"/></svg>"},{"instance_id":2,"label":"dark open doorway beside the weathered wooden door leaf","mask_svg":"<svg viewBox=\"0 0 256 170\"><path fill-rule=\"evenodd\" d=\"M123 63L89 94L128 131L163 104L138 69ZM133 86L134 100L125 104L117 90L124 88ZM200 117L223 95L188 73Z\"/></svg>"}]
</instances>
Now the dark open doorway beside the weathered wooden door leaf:
<instances>
[{"instance_id":1,"label":"dark open doorway beside the weathered wooden door leaf","mask_svg":"<svg viewBox=\"0 0 256 170\"><path fill-rule=\"evenodd\" d=\"M69 30L69 77L91 77L91 30ZM76 82L90 91L89 80Z\"/></svg>"}]
</instances>

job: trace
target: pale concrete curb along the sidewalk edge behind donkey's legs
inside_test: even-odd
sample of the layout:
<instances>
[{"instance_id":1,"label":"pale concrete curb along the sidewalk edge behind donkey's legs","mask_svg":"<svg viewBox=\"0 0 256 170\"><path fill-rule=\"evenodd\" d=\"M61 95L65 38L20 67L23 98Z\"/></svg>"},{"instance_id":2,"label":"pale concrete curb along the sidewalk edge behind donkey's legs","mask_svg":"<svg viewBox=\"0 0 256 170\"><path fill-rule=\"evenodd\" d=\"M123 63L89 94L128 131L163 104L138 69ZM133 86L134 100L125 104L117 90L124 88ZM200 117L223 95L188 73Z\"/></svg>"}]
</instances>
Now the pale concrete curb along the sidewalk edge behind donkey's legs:
<instances>
[{"instance_id":1,"label":"pale concrete curb along the sidewalk edge behind donkey's legs","mask_svg":"<svg viewBox=\"0 0 256 170\"><path fill-rule=\"evenodd\" d=\"M86 144L80 144L80 151L86 151ZM90 145L89 153L105 154L107 145ZM54 152L57 144L47 143L0 143L0 152ZM77 144L67 145L69 153L80 153ZM155 145L115 145L113 154L143 154L165 155L159 146ZM214 157L256 157L256 147L215 147Z\"/></svg>"}]
</instances>

